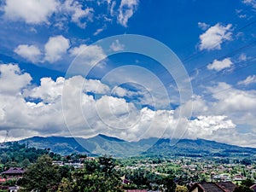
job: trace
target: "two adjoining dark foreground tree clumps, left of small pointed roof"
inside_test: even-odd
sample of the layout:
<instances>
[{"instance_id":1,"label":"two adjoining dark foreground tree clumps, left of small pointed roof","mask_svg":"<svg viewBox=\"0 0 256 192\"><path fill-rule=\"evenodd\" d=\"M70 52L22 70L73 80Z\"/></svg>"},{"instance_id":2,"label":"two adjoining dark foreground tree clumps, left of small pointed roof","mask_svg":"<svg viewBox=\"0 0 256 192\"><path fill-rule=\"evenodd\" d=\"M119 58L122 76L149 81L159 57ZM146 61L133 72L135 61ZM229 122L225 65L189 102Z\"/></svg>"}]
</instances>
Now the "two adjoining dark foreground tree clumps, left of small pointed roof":
<instances>
[{"instance_id":1,"label":"two adjoining dark foreground tree clumps, left of small pointed roof","mask_svg":"<svg viewBox=\"0 0 256 192\"><path fill-rule=\"evenodd\" d=\"M121 181L111 157L85 161L84 168L52 164L49 155L43 155L28 167L24 177L17 181L20 191L38 192L121 192Z\"/></svg>"}]
</instances>

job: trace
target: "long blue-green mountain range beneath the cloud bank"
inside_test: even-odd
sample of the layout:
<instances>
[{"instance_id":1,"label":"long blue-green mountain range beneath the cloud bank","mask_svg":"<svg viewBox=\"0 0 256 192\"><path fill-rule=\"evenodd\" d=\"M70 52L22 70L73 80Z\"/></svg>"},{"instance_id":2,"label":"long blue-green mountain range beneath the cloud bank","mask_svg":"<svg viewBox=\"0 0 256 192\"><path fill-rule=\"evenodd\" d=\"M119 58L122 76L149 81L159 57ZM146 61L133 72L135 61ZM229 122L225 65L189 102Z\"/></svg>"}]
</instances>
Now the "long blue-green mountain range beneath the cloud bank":
<instances>
[{"instance_id":1,"label":"long blue-green mountain range beneath the cloud bank","mask_svg":"<svg viewBox=\"0 0 256 192\"><path fill-rule=\"evenodd\" d=\"M29 147L50 148L57 154L108 154L114 157L136 155L146 156L190 156L190 157L245 157L256 156L256 148L243 148L205 139L170 140L166 138L148 138L138 142L97 135L96 137L30 137L20 140Z\"/></svg>"}]
</instances>

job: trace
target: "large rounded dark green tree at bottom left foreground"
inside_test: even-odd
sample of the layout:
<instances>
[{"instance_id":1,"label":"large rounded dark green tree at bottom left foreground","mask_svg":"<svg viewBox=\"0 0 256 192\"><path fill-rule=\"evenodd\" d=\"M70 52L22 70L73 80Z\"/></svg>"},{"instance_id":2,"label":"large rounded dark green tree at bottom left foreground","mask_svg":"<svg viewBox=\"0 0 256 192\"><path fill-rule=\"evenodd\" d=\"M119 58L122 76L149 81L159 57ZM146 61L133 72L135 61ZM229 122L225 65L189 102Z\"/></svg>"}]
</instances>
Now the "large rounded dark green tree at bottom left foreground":
<instances>
[{"instance_id":1,"label":"large rounded dark green tree at bottom left foreground","mask_svg":"<svg viewBox=\"0 0 256 192\"><path fill-rule=\"evenodd\" d=\"M28 167L21 186L27 191L56 191L60 182L61 177L58 173L58 166L53 165L49 155L44 154L38 158L36 163Z\"/></svg>"}]
</instances>

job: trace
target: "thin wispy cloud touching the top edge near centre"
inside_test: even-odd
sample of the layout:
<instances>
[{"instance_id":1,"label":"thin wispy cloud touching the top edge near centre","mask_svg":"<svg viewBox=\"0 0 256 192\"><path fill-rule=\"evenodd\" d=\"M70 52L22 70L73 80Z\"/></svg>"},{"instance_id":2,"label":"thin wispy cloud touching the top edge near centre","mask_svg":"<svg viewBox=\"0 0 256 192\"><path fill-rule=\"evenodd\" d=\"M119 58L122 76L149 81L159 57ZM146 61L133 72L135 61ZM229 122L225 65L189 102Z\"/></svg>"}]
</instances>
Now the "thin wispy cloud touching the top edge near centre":
<instances>
[{"instance_id":1,"label":"thin wispy cloud touching the top edge near centre","mask_svg":"<svg viewBox=\"0 0 256 192\"><path fill-rule=\"evenodd\" d=\"M122 0L119 6L118 22L127 27L128 20L137 10L138 0Z\"/></svg>"}]
</instances>

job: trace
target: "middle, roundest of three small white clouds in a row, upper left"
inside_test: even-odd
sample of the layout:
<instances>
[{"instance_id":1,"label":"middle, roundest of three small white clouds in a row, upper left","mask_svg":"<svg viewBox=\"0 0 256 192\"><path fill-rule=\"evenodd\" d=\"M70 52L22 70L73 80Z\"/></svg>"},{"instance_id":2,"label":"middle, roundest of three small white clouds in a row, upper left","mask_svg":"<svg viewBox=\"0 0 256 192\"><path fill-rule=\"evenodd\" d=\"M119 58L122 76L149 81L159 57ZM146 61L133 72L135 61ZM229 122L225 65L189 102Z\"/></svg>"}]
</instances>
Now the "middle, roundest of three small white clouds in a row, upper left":
<instances>
[{"instance_id":1,"label":"middle, roundest of three small white clouds in a row, upper left","mask_svg":"<svg viewBox=\"0 0 256 192\"><path fill-rule=\"evenodd\" d=\"M61 60L61 56L67 52L69 47L69 40L62 35L49 38L48 42L44 45L44 60L51 63Z\"/></svg>"}]
</instances>

